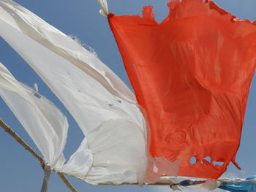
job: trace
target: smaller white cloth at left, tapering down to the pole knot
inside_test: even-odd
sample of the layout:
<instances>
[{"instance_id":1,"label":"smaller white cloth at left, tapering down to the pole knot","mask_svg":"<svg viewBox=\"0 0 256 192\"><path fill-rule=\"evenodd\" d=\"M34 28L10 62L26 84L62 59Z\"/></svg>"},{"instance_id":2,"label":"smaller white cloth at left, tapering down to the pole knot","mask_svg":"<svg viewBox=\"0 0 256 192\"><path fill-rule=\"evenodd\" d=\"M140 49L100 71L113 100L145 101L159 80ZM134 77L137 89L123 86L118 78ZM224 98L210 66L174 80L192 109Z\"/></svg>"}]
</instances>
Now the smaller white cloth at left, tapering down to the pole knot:
<instances>
[{"instance_id":1,"label":"smaller white cloth at left, tapering down to the pole knot","mask_svg":"<svg viewBox=\"0 0 256 192\"><path fill-rule=\"evenodd\" d=\"M21 84L0 63L0 96L29 133L40 152L54 169L64 164L67 118L43 96Z\"/></svg>"}]
</instances>

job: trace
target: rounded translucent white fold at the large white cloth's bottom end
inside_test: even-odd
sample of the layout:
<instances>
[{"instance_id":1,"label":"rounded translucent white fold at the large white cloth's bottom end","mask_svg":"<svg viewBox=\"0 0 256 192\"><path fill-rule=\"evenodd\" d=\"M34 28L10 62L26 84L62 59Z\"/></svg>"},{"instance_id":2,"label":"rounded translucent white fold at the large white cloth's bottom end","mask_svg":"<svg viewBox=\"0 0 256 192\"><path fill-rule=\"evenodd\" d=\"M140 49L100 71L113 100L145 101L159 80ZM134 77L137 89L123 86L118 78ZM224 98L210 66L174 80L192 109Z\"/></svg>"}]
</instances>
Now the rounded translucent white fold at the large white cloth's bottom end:
<instances>
[{"instance_id":1,"label":"rounded translucent white fold at the large white cloth's bottom end","mask_svg":"<svg viewBox=\"0 0 256 192\"><path fill-rule=\"evenodd\" d=\"M142 181L147 168L144 134L129 120L109 120L88 134L94 168L86 181L91 184Z\"/></svg>"}]
</instances>

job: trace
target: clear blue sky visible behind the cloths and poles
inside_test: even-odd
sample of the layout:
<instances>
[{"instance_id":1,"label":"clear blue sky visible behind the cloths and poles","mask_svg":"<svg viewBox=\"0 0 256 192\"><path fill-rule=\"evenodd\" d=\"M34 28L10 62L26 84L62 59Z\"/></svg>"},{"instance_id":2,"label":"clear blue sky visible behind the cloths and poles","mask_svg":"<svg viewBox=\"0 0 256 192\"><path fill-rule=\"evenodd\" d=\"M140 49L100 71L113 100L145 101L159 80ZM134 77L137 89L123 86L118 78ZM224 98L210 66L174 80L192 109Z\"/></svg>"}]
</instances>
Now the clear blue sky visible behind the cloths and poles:
<instances>
[{"instance_id":1,"label":"clear blue sky visible behind the cloths and poles","mask_svg":"<svg viewBox=\"0 0 256 192\"><path fill-rule=\"evenodd\" d=\"M1 0L0 0L1 1ZM16 0L18 4L30 9L40 18L59 28L65 34L77 36L82 43L93 47L99 58L110 67L124 82L129 85L127 74L121 61L121 56L116 47L108 22L105 17L99 15L99 6L96 0ZM163 20L168 13L167 0L109 0L110 12L116 15L140 14L145 5L153 5L158 21ZM236 15L238 18L256 20L255 0L215 0L220 7ZM256 53L255 53L256 54ZM21 82L34 85L37 82L39 93L53 101L69 119L69 134L67 147L64 151L67 159L75 152L83 139L83 134L75 121L69 115L61 102L39 79L12 48L0 37L0 62L7 66L12 74ZM131 88L131 86L129 85ZM237 162L242 171L238 171L232 164L228 167L227 177L247 177L256 174L256 79L252 82L249 101L247 104L244 131L241 139L241 147L238 151ZM12 115L4 101L0 99L0 118L20 134L20 136L37 148L23 130L18 120ZM38 151L38 150L37 150ZM0 191L39 191L42 185L43 172L39 162L31 156L23 147L15 142L12 137L0 130ZM69 177L71 183L78 191L170 191L168 187L139 187L139 186L94 186L82 180ZM49 192L69 191L56 174L51 175Z\"/></svg>"}]
</instances>

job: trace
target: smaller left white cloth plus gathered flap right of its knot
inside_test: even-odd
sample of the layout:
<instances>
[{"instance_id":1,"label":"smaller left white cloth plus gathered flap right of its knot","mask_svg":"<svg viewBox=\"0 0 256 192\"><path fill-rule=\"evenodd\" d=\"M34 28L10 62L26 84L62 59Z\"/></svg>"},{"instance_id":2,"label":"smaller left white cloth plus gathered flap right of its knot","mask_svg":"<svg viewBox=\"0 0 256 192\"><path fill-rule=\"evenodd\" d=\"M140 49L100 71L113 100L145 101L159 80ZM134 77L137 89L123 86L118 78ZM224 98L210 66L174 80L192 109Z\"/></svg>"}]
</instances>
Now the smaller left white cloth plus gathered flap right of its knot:
<instances>
[{"instance_id":1,"label":"smaller left white cloth plus gathered flap right of its knot","mask_svg":"<svg viewBox=\"0 0 256 192\"><path fill-rule=\"evenodd\" d=\"M92 167L92 154L86 137L78 150L65 163L63 154L67 141L67 118L48 99L39 95L15 77L0 63L0 96L29 133L42 153L45 164L56 172L74 177L83 175Z\"/></svg>"}]
</instances>

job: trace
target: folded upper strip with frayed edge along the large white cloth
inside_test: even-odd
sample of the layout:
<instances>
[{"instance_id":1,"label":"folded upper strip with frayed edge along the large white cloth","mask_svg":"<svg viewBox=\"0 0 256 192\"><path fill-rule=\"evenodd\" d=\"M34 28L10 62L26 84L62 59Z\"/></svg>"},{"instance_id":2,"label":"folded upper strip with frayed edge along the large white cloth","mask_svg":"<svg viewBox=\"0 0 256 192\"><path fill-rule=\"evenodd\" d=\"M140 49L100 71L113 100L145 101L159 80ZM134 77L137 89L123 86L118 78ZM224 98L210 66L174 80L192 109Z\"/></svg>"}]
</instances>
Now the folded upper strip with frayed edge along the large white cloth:
<instances>
[{"instance_id":1,"label":"folded upper strip with frayed edge along the large white cloth","mask_svg":"<svg viewBox=\"0 0 256 192\"><path fill-rule=\"evenodd\" d=\"M135 96L127 88L127 85L108 66L105 66L96 54L91 54L72 38L13 1L1 0L0 13L1 20L48 47L54 53L66 58L73 65L104 85L110 93L136 103Z\"/></svg>"}]
</instances>

